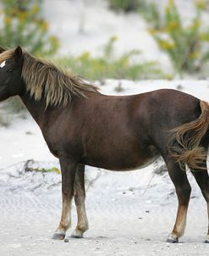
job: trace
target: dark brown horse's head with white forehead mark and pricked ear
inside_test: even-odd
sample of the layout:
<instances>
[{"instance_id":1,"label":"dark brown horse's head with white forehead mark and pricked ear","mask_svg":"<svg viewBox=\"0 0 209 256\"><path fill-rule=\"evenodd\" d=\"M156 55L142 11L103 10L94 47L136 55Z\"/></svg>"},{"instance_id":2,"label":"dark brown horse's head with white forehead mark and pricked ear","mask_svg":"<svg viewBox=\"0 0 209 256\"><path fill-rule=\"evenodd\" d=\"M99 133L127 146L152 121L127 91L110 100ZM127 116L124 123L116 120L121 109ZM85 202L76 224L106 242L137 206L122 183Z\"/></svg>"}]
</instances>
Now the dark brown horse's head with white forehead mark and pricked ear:
<instances>
[{"instance_id":1,"label":"dark brown horse's head with white forehead mark and pricked ear","mask_svg":"<svg viewBox=\"0 0 209 256\"><path fill-rule=\"evenodd\" d=\"M0 101L21 93L23 88L22 66L21 47L8 51L0 47Z\"/></svg>"}]
</instances>

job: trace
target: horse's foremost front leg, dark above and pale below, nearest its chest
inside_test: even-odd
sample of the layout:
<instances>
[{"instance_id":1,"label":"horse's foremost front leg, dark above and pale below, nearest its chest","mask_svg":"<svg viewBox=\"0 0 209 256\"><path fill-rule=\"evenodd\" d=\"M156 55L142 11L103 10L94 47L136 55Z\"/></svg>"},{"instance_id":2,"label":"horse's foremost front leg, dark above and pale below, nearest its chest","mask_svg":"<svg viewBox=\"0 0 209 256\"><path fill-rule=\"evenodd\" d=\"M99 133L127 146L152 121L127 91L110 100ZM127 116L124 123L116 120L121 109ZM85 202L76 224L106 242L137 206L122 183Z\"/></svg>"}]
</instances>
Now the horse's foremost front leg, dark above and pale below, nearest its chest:
<instances>
[{"instance_id":1,"label":"horse's foremost front leg, dark above and pale below, nearest its chest","mask_svg":"<svg viewBox=\"0 0 209 256\"><path fill-rule=\"evenodd\" d=\"M62 172L63 209L58 229L52 238L62 240L71 225L71 203L74 196L74 175L77 163L72 161L72 159L64 158L59 159L59 162Z\"/></svg>"}]
</instances>

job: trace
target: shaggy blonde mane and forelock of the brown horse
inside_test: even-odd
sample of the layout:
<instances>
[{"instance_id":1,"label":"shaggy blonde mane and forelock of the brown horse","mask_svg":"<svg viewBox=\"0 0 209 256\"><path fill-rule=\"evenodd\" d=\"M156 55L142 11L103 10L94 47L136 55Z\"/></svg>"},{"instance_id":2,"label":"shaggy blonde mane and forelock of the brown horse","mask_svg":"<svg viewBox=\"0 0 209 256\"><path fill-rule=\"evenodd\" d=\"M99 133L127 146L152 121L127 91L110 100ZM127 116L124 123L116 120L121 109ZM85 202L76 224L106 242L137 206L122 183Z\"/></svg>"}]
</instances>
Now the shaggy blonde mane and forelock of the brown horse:
<instances>
[{"instance_id":1,"label":"shaggy blonde mane and forelock of the brown horse","mask_svg":"<svg viewBox=\"0 0 209 256\"><path fill-rule=\"evenodd\" d=\"M14 50L1 53L0 64L13 54ZM36 101L44 96L47 106L65 106L71 101L72 95L85 97L85 92L98 92L96 86L71 74L69 70L62 70L51 62L35 58L26 52L23 53L23 58L22 78L26 90Z\"/></svg>"}]
</instances>

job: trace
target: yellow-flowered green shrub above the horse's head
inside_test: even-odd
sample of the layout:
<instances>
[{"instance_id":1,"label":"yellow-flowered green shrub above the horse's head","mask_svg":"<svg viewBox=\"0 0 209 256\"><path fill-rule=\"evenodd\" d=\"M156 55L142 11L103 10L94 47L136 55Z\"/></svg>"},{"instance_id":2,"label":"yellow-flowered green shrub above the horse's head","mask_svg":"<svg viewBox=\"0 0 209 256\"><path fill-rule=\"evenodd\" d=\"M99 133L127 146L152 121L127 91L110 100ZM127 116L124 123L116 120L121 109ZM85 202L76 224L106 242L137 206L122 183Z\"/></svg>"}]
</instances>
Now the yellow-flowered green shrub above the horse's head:
<instances>
[{"instance_id":1,"label":"yellow-flowered green shrub above the horse's head","mask_svg":"<svg viewBox=\"0 0 209 256\"><path fill-rule=\"evenodd\" d=\"M47 21L41 18L42 0L2 0L0 45L25 47L36 55L49 55L58 49L58 38L49 36Z\"/></svg>"}]
</instances>

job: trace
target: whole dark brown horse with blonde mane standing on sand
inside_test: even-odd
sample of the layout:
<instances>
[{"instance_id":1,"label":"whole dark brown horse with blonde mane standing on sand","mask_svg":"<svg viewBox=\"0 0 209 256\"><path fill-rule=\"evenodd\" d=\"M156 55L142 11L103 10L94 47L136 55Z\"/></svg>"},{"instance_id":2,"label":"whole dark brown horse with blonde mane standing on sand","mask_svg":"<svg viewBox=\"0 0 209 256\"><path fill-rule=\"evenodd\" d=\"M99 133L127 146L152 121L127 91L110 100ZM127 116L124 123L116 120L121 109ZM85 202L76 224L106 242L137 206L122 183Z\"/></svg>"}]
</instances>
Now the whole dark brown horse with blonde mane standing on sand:
<instances>
[{"instance_id":1,"label":"whole dark brown horse with blonde mane standing on sand","mask_svg":"<svg viewBox=\"0 0 209 256\"><path fill-rule=\"evenodd\" d=\"M133 170L161 155L179 199L168 242L178 242L184 234L191 191L186 165L201 187L209 214L208 103L167 89L124 97L102 95L87 81L21 47L0 53L0 100L19 95L60 161L63 211L53 238L65 237L73 197L78 214L73 236L82 237L88 229L85 164Z\"/></svg>"}]
</instances>

